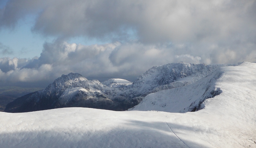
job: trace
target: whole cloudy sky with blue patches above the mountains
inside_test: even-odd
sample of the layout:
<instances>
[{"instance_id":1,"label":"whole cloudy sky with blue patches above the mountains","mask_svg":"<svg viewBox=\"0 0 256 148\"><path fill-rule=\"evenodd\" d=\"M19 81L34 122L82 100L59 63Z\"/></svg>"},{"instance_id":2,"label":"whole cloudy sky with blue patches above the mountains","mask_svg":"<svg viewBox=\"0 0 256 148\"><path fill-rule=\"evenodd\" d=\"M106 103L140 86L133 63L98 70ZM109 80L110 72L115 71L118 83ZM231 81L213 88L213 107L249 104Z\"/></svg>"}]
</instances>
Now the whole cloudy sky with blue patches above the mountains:
<instances>
[{"instance_id":1,"label":"whole cloudy sky with blue patches above the mountains","mask_svg":"<svg viewBox=\"0 0 256 148\"><path fill-rule=\"evenodd\" d=\"M1 0L0 85L70 72L134 81L168 63L256 62L255 0Z\"/></svg>"}]
</instances>

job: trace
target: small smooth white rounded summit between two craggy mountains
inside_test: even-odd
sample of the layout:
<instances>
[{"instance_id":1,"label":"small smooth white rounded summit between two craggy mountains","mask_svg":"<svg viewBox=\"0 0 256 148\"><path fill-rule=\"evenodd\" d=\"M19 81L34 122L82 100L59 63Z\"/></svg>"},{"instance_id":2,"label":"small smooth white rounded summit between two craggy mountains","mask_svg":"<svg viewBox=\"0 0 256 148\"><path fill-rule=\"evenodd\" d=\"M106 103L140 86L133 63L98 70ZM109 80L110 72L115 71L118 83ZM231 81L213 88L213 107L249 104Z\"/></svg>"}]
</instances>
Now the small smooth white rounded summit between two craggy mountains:
<instances>
[{"instance_id":1,"label":"small smooth white rounded summit between two craggy mountains","mask_svg":"<svg viewBox=\"0 0 256 148\"><path fill-rule=\"evenodd\" d=\"M132 82L124 79L108 79L107 81L104 81L101 83L108 87L118 87L118 88L124 88L132 84Z\"/></svg>"}]
</instances>

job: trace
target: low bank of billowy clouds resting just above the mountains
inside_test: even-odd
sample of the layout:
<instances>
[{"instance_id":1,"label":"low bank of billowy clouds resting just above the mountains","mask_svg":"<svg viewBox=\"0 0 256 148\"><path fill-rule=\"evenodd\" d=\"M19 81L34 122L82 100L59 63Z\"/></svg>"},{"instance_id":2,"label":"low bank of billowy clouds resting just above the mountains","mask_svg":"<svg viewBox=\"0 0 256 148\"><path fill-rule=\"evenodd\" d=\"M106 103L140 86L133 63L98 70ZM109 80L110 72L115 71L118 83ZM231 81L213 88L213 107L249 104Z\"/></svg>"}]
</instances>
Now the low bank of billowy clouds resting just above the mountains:
<instances>
[{"instance_id":1,"label":"low bank of billowy clouds resting just above the mountains","mask_svg":"<svg viewBox=\"0 0 256 148\"><path fill-rule=\"evenodd\" d=\"M62 74L70 72L80 73L88 79L100 81L109 78L134 81L136 77L153 66L173 62L256 61L255 50L244 50L247 53L242 54L244 51L237 53L229 48L216 50L218 46L209 48L213 48L212 52L205 50L198 53L197 48L191 44L144 45L140 42L115 42L84 46L56 40L44 44L44 50L39 58L0 58L0 81L6 83L33 82L38 83L37 86L40 86L43 81L48 85ZM46 86L43 85L43 87Z\"/></svg>"}]
</instances>

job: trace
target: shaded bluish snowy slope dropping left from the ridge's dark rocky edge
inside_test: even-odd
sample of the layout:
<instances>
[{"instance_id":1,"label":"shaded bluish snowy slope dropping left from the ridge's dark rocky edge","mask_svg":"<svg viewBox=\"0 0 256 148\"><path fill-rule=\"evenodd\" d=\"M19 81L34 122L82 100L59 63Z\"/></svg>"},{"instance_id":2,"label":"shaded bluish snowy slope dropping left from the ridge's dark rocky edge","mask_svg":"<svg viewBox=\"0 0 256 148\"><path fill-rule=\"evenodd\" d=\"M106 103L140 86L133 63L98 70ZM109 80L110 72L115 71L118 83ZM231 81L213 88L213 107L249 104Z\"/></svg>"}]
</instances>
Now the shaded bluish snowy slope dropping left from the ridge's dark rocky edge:
<instances>
[{"instance_id":1,"label":"shaded bluish snowy slope dropping left from the ridge's dark rocky edge","mask_svg":"<svg viewBox=\"0 0 256 148\"><path fill-rule=\"evenodd\" d=\"M215 86L215 82L221 74L219 68L213 74L190 85L151 93L129 110L158 110L177 113L196 111L201 108L201 103L205 99L222 92L219 87Z\"/></svg>"}]
</instances>

